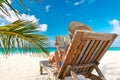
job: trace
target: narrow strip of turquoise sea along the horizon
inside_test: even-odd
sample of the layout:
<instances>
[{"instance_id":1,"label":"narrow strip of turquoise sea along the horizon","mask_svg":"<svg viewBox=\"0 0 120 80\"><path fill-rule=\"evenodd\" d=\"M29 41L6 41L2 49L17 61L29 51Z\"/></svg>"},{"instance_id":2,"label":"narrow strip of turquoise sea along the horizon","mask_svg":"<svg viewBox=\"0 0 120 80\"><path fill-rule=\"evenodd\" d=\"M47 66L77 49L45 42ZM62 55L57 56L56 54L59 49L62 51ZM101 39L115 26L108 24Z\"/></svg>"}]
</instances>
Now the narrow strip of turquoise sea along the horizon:
<instances>
[{"instance_id":1,"label":"narrow strip of turquoise sea along the horizon","mask_svg":"<svg viewBox=\"0 0 120 80\"><path fill-rule=\"evenodd\" d=\"M49 47L49 48L46 48L49 52L53 52L55 50L57 50L55 47ZM110 47L108 49L108 51L120 51L120 47ZM0 48L0 54L2 54L4 51L2 48ZM12 52L12 49L10 50L10 54L26 54L26 53L43 53L41 50L39 50L38 48L31 48L29 50L24 50L24 49L21 49L21 48L15 48L14 52Z\"/></svg>"}]
</instances>

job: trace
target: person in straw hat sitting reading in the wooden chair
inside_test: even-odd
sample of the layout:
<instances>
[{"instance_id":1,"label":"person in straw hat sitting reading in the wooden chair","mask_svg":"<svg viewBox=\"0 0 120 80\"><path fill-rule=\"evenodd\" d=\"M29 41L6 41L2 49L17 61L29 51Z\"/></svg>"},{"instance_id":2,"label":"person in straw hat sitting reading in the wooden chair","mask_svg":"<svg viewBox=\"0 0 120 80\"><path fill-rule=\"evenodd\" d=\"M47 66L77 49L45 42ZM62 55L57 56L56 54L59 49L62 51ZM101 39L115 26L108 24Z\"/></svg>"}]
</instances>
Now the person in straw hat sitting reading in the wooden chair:
<instances>
[{"instance_id":1,"label":"person in straw hat sitting reading in the wooden chair","mask_svg":"<svg viewBox=\"0 0 120 80\"><path fill-rule=\"evenodd\" d=\"M76 30L92 31L92 29L89 26L86 26L86 25L79 23L79 22L71 22L69 27L68 27L69 36L70 36L71 40L72 40ZM55 42L55 46L57 48L57 51L55 51L50 56L49 62L50 63L55 62L56 68L58 70L60 69L60 67L64 61L64 57L65 57L67 49L70 45L71 45L71 41L69 41L69 45L66 47L66 49L62 49L62 48L60 48L59 43L57 41Z\"/></svg>"}]
</instances>

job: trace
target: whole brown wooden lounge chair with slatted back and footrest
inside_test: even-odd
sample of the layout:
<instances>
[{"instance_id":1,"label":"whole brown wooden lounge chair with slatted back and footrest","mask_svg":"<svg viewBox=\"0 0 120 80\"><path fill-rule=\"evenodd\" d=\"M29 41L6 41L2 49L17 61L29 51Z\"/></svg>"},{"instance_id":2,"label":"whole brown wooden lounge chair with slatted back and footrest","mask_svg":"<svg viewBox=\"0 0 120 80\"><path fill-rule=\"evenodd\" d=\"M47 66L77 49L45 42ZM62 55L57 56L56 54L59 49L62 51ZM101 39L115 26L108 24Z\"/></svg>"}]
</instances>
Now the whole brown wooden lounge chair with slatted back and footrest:
<instances>
[{"instance_id":1,"label":"whole brown wooden lounge chair with slatted back and footrest","mask_svg":"<svg viewBox=\"0 0 120 80\"><path fill-rule=\"evenodd\" d=\"M57 71L48 61L40 61L40 72L42 74L42 68L44 68L53 78L52 80L64 79L67 76L71 76L73 80L78 80L77 75L83 75L91 80L106 80L98 65L116 37L117 34L77 30L61 69ZM98 75L92 74L94 69Z\"/></svg>"}]
</instances>

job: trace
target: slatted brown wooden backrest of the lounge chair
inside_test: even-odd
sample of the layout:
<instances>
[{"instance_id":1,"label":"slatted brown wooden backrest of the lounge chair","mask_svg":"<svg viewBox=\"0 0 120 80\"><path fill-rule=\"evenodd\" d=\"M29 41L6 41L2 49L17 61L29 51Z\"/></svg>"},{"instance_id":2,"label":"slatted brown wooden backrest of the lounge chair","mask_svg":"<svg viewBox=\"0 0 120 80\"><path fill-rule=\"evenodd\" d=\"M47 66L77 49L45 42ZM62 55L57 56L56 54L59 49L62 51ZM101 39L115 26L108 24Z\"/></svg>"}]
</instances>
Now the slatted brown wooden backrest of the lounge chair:
<instances>
[{"instance_id":1,"label":"slatted brown wooden backrest of the lounge chair","mask_svg":"<svg viewBox=\"0 0 120 80\"><path fill-rule=\"evenodd\" d=\"M68 48L63 65L58 72L58 78L69 75L69 72L66 73L67 65L99 63L116 37L117 34L77 30L72 39L72 44ZM80 73L81 71L92 72L93 68L75 69L76 73Z\"/></svg>"}]
</instances>

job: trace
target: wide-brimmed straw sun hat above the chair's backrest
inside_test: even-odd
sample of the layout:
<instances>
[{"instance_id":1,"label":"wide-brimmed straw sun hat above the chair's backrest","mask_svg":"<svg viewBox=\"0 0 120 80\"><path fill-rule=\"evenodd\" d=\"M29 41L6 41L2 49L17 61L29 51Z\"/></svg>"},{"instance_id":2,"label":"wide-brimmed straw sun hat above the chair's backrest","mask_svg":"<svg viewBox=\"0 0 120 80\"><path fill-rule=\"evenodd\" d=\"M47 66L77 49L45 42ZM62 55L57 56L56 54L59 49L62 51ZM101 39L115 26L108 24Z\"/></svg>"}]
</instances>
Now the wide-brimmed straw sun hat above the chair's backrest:
<instances>
[{"instance_id":1,"label":"wide-brimmed straw sun hat above the chair's backrest","mask_svg":"<svg viewBox=\"0 0 120 80\"><path fill-rule=\"evenodd\" d=\"M92 31L92 29L85 24L82 24L80 22L71 22L68 27L68 32L71 39L76 30Z\"/></svg>"}]
</instances>

